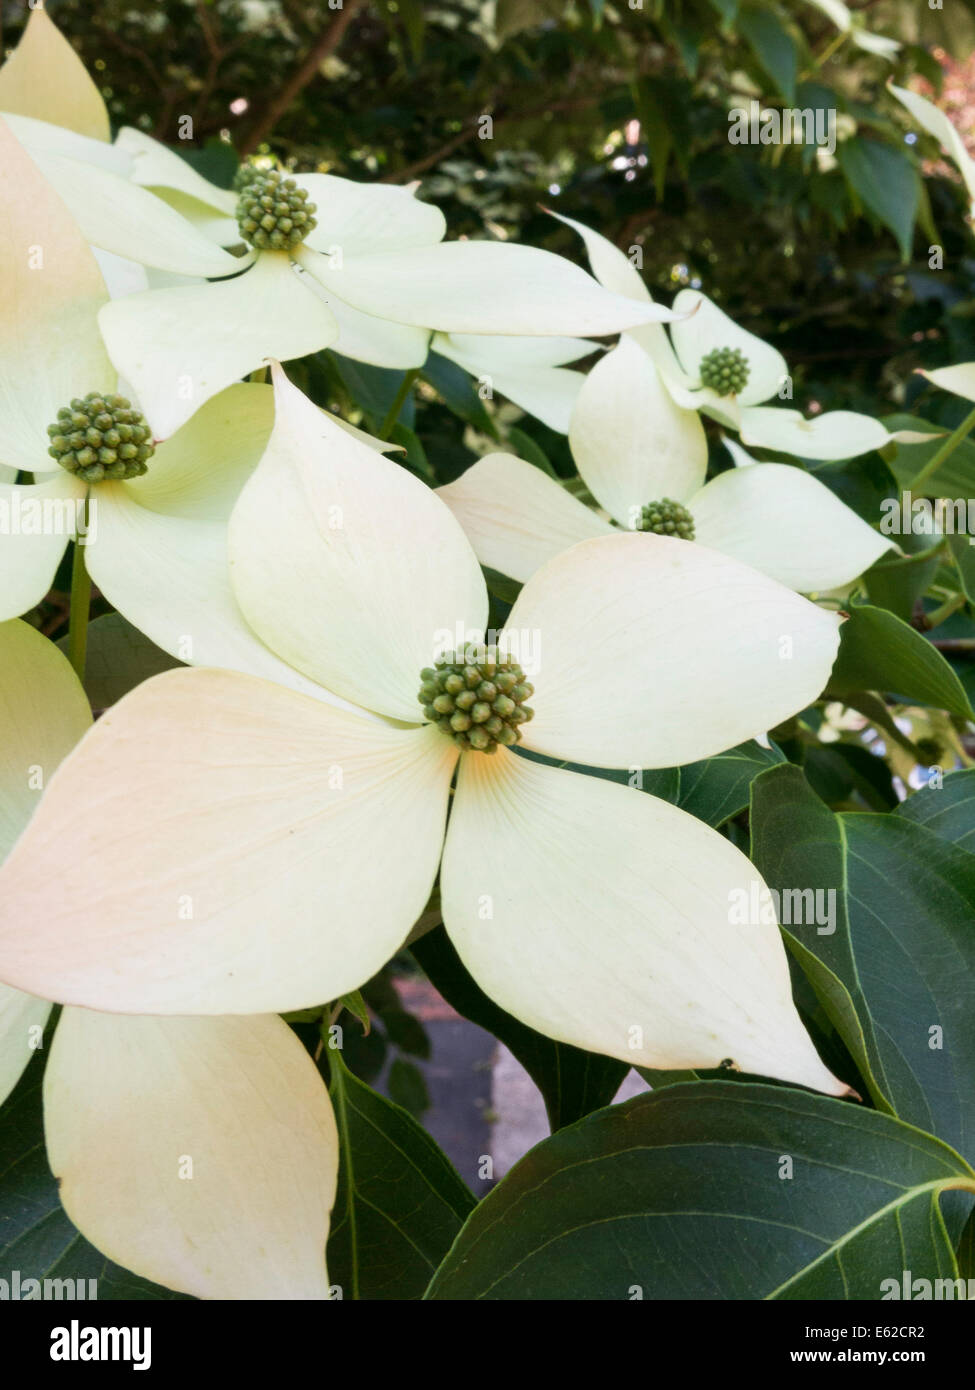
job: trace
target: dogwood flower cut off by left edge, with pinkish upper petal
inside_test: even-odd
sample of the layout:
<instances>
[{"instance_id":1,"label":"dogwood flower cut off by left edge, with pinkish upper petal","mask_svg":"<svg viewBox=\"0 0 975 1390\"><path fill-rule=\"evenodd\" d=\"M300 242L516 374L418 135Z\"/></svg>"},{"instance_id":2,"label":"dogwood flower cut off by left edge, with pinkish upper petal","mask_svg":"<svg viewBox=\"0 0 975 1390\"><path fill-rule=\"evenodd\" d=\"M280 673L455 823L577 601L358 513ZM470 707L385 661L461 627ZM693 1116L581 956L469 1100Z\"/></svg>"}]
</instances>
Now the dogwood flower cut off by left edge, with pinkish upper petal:
<instances>
[{"instance_id":1,"label":"dogwood flower cut off by left edge, with pinkish upper petal","mask_svg":"<svg viewBox=\"0 0 975 1390\"><path fill-rule=\"evenodd\" d=\"M0 245L0 620L43 599L76 539L106 598L170 655L313 689L255 639L227 570L270 388L227 388L156 446L99 335L108 293L95 257L3 121Z\"/></svg>"}]
</instances>

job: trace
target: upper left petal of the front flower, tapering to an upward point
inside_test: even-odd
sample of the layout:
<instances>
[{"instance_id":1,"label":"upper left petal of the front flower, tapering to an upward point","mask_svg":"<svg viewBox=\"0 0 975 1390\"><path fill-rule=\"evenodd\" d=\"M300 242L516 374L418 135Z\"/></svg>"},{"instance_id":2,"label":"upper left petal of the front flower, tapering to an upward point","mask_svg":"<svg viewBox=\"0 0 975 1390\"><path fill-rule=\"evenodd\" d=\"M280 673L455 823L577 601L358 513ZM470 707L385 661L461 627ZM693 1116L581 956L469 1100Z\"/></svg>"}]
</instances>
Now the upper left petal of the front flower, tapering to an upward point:
<instances>
[{"instance_id":1,"label":"upper left petal of the front flower, tapering to an upward point","mask_svg":"<svg viewBox=\"0 0 975 1390\"><path fill-rule=\"evenodd\" d=\"M420 671L480 634L484 580L458 523L405 468L345 431L274 367L271 442L231 517L241 609L328 689L421 719ZM474 637L472 637L474 639Z\"/></svg>"}]
</instances>

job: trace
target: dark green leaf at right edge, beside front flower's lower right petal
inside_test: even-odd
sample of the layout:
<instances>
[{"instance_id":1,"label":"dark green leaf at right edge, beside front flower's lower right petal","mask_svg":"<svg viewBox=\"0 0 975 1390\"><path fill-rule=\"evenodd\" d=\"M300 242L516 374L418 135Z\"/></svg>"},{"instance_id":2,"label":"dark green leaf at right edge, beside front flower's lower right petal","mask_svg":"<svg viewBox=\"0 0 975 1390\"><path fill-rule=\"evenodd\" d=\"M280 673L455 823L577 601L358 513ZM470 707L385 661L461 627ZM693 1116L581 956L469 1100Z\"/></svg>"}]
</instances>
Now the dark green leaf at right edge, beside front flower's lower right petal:
<instances>
[{"instance_id":1,"label":"dark green leaf at right edge, beside front flower's lower right petal","mask_svg":"<svg viewBox=\"0 0 975 1390\"><path fill-rule=\"evenodd\" d=\"M791 766L752 784L751 833L875 1102L975 1155L975 859L901 816L835 815Z\"/></svg>"}]
</instances>

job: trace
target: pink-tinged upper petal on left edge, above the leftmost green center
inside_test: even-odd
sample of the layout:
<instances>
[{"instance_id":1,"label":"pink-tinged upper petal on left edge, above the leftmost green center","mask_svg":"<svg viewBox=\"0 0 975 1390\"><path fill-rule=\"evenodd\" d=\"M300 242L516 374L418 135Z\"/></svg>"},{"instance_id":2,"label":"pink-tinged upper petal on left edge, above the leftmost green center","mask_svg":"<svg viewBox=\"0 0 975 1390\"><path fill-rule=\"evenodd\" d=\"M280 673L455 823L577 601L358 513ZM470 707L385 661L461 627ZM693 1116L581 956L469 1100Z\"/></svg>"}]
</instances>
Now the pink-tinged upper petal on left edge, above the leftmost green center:
<instances>
[{"instance_id":1,"label":"pink-tinged upper petal on left edge, above the leftmost green center","mask_svg":"<svg viewBox=\"0 0 975 1390\"><path fill-rule=\"evenodd\" d=\"M108 292L74 218L0 121L0 461L54 468L47 425L74 396L111 391L97 329Z\"/></svg>"}]
</instances>

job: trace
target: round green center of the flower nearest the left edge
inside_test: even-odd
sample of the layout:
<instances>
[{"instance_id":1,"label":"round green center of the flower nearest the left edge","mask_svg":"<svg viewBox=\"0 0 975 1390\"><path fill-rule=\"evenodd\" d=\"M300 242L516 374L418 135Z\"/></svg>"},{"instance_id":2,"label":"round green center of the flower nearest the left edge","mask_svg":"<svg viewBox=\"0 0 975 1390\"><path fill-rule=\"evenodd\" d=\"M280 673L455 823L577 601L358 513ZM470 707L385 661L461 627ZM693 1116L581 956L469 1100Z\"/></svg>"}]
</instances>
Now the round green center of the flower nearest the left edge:
<instances>
[{"instance_id":1,"label":"round green center of the flower nearest the left edge","mask_svg":"<svg viewBox=\"0 0 975 1390\"><path fill-rule=\"evenodd\" d=\"M89 391L58 410L47 425L47 453L83 482L138 478L156 453L145 416L125 396Z\"/></svg>"}]
</instances>

